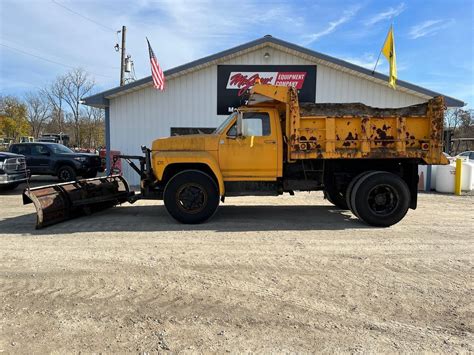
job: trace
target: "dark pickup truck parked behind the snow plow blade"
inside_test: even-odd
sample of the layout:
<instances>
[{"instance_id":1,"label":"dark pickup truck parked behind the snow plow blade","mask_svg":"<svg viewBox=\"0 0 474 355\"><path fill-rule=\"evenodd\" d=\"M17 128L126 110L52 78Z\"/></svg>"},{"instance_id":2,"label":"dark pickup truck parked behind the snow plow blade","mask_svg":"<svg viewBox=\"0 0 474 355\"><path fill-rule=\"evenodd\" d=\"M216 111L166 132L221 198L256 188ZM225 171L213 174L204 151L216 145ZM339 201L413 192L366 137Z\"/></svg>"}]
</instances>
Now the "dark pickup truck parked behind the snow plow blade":
<instances>
[{"instance_id":1,"label":"dark pickup truck parked behind the snow plow blade","mask_svg":"<svg viewBox=\"0 0 474 355\"><path fill-rule=\"evenodd\" d=\"M98 155L75 153L58 143L17 143L10 146L10 152L25 156L32 175L53 175L61 181L92 178L104 171Z\"/></svg>"}]
</instances>

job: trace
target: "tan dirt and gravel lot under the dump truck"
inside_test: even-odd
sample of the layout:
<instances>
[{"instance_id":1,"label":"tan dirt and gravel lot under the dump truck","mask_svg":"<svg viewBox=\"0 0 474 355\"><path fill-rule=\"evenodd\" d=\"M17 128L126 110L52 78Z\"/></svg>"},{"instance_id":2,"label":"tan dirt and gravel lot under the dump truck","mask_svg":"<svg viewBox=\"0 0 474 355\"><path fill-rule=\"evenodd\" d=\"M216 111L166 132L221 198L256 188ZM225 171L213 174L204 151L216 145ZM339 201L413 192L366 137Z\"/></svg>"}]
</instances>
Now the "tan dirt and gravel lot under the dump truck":
<instances>
[{"instance_id":1,"label":"tan dirt and gravel lot under the dump truck","mask_svg":"<svg viewBox=\"0 0 474 355\"><path fill-rule=\"evenodd\" d=\"M0 352L474 351L474 196L421 194L388 229L312 193L35 231L20 190L0 196Z\"/></svg>"}]
</instances>

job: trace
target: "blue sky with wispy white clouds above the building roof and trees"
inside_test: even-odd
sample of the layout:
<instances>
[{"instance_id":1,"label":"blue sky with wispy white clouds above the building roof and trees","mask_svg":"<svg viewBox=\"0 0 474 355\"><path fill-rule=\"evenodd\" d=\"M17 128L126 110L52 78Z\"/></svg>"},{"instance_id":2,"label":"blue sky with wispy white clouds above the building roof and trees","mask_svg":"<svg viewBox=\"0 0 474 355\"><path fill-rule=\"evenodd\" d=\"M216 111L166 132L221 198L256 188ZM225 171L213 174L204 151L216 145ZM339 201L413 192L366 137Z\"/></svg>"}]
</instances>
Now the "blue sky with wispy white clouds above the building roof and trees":
<instances>
[{"instance_id":1,"label":"blue sky with wispy white clouds above the building roof and trees","mask_svg":"<svg viewBox=\"0 0 474 355\"><path fill-rule=\"evenodd\" d=\"M393 23L398 78L474 107L472 0L0 0L0 94L22 97L74 67L118 86L127 26L136 78L145 36L164 70L266 34L373 69ZM388 72L384 58L377 71Z\"/></svg>"}]
</instances>

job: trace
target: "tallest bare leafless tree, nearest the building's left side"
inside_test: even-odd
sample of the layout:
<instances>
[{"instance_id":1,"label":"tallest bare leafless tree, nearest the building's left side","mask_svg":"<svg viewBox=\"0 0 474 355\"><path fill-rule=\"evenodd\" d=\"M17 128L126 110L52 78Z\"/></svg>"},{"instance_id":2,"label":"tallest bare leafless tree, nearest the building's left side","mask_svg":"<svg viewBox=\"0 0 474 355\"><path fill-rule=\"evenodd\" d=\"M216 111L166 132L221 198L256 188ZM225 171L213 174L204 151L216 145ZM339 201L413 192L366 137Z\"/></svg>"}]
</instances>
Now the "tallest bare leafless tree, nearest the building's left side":
<instances>
[{"instance_id":1,"label":"tallest bare leafless tree, nearest the building's left side","mask_svg":"<svg viewBox=\"0 0 474 355\"><path fill-rule=\"evenodd\" d=\"M71 110L74 124L74 140L81 145L81 99L91 93L94 88L94 80L89 78L86 71L81 68L73 69L66 75L64 101Z\"/></svg>"}]
</instances>

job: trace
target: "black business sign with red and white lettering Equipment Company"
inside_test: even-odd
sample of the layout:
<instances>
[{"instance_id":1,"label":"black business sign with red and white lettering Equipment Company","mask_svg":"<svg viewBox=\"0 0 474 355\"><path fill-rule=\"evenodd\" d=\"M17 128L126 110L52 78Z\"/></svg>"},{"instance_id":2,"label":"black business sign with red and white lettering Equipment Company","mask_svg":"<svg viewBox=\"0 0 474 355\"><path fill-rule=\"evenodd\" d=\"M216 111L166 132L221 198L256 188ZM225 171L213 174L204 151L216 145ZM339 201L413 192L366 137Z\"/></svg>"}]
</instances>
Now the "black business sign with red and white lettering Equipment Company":
<instances>
[{"instance_id":1,"label":"black business sign with red and white lettering Equipment Company","mask_svg":"<svg viewBox=\"0 0 474 355\"><path fill-rule=\"evenodd\" d=\"M315 102L315 65L219 65L217 114L228 115L245 104L244 94L257 79L262 84L293 86L301 102Z\"/></svg>"}]
</instances>

